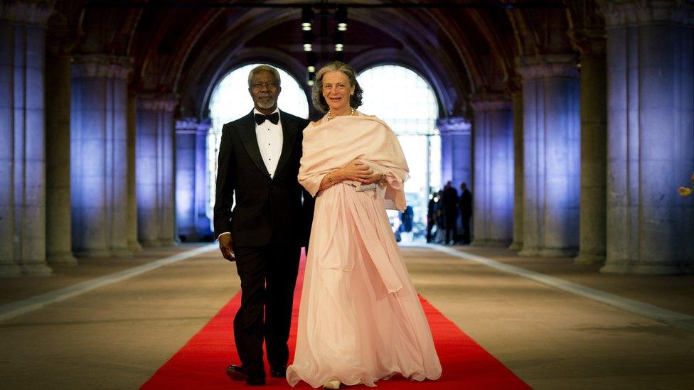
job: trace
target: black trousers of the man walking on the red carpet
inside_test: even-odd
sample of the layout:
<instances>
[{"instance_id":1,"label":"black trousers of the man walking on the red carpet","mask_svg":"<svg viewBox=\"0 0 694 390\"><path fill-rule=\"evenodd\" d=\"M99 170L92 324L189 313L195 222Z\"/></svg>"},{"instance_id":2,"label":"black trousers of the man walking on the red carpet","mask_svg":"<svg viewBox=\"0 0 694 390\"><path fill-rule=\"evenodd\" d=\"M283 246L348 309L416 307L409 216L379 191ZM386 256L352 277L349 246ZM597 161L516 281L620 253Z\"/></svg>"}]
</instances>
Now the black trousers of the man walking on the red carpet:
<instances>
[{"instance_id":1,"label":"black trousers of the man walking on the red carpet","mask_svg":"<svg viewBox=\"0 0 694 390\"><path fill-rule=\"evenodd\" d=\"M263 340L271 367L282 367L289 359L287 340L301 248L268 244L234 251L241 278L241 307L234 318L236 350L248 375L265 377Z\"/></svg>"}]
</instances>

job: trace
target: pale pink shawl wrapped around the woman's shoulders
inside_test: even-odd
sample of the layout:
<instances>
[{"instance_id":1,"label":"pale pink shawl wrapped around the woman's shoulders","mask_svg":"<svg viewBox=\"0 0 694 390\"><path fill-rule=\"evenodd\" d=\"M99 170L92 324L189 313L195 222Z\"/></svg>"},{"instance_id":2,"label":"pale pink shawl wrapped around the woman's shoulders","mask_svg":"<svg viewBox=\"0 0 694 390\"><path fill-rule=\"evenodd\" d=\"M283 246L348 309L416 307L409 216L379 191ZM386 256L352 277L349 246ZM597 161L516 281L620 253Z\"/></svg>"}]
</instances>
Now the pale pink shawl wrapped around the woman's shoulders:
<instances>
[{"instance_id":1,"label":"pale pink shawl wrapped around the woman's shoulders","mask_svg":"<svg viewBox=\"0 0 694 390\"><path fill-rule=\"evenodd\" d=\"M360 114L336 117L318 126L304 129L303 156L299 168L299 183L311 195L318 193L321 180L333 170L346 166L357 158L374 172L385 175L385 205L393 210L405 210L407 174L405 154L393 130L376 117ZM359 186L361 183L345 183Z\"/></svg>"}]
</instances>

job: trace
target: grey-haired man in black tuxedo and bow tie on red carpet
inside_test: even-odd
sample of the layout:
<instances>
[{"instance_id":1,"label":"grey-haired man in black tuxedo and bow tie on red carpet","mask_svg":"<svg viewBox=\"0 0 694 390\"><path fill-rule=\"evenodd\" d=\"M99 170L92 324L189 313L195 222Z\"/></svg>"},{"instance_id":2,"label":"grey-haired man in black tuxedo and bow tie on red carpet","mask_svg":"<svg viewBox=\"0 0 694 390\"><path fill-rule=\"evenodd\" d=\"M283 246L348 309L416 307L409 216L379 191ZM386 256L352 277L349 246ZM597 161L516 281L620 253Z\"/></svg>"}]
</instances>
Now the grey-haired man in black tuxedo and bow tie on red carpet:
<instances>
[{"instance_id":1,"label":"grey-haired man in black tuxedo and bow tie on red carpet","mask_svg":"<svg viewBox=\"0 0 694 390\"><path fill-rule=\"evenodd\" d=\"M313 204L310 196L302 204L297 181L302 131L309 122L277 109L281 91L274 67L253 68L248 92L255 109L224 125L219 150L215 236L224 258L236 261L241 279L241 307L234 318L241 365L230 365L227 374L252 386L265 384L263 340L270 375L285 375L299 254Z\"/></svg>"}]
</instances>

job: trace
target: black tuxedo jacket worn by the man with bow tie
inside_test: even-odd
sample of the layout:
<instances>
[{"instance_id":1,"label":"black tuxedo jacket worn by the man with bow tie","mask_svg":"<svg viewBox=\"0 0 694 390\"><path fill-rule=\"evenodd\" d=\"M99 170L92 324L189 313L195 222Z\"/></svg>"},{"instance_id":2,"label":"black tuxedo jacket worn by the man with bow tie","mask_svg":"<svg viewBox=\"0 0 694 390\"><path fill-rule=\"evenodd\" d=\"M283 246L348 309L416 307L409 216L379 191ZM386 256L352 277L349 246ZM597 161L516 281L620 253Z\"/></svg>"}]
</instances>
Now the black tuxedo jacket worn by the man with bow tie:
<instances>
[{"instance_id":1,"label":"black tuxedo jacket worn by the man with bow tie","mask_svg":"<svg viewBox=\"0 0 694 390\"><path fill-rule=\"evenodd\" d=\"M259 247L270 242L304 246L308 240L313 198L304 196L297 175L302 132L309 121L282 111L279 120L282 153L272 178L260 155L252 111L225 124L222 129L214 208L215 237L230 232L234 247Z\"/></svg>"}]
</instances>

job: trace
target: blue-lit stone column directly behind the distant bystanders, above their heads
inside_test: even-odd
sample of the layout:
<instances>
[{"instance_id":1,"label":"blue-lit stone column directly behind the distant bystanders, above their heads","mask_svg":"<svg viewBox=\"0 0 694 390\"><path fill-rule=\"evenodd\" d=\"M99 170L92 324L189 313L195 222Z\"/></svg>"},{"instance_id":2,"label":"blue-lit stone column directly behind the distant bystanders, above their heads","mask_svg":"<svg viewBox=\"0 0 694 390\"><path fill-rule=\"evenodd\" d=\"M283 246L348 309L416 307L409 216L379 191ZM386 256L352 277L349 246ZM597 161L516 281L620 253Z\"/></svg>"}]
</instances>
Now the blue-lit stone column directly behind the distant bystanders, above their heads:
<instances>
[{"instance_id":1,"label":"blue-lit stone column directly behind the distant bystanders, above their heads","mask_svg":"<svg viewBox=\"0 0 694 390\"><path fill-rule=\"evenodd\" d=\"M472 182L471 124L462 117L437 119L441 134L441 188L451 180L454 188ZM469 186L471 187L471 186Z\"/></svg>"}]
</instances>

